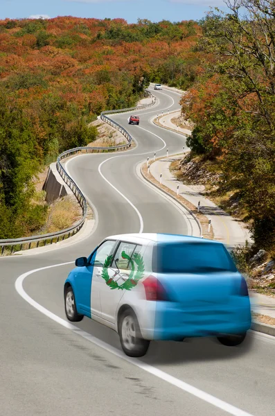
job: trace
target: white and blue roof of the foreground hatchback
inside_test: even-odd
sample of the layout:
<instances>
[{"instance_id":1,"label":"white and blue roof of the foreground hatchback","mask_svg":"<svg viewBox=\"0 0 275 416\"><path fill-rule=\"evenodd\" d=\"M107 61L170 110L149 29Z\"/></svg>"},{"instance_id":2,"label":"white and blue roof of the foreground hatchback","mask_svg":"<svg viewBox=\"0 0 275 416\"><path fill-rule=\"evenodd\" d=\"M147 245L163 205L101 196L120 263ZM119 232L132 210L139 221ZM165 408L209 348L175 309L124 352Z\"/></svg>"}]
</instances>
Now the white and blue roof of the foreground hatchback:
<instances>
[{"instance_id":1,"label":"white and blue roof of the foreground hatchback","mask_svg":"<svg viewBox=\"0 0 275 416\"><path fill-rule=\"evenodd\" d=\"M116 234L108 236L106 239L123 240L129 242L151 241L154 243L217 243L209 239L202 239L201 237L183 236L180 234L164 234L164 233L132 233L132 234Z\"/></svg>"}]
</instances>

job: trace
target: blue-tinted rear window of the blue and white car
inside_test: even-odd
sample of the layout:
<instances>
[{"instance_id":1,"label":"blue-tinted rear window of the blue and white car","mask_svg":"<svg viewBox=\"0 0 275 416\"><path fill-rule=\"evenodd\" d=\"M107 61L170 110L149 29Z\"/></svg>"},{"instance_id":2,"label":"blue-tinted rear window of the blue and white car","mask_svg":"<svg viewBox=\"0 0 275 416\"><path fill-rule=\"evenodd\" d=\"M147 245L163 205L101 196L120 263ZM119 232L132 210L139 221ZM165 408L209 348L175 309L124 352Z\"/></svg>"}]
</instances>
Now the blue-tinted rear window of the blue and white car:
<instances>
[{"instance_id":1,"label":"blue-tinted rear window of the blue and white car","mask_svg":"<svg viewBox=\"0 0 275 416\"><path fill-rule=\"evenodd\" d=\"M216 243L157 243L152 271L159 273L236 272L229 253Z\"/></svg>"}]
</instances>

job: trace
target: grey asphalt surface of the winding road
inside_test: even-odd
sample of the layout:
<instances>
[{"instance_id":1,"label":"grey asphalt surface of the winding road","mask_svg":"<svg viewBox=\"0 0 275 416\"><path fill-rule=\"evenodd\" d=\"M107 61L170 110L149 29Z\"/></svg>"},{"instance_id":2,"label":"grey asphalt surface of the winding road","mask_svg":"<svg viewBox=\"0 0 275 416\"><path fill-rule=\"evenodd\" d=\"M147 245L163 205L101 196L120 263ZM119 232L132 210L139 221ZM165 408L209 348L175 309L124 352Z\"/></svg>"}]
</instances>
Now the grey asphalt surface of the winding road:
<instances>
[{"instance_id":1,"label":"grey asphalt surface of the winding road","mask_svg":"<svg viewBox=\"0 0 275 416\"><path fill-rule=\"evenodd\" d=\"M0 415L275 413L270 336L251 332L235 348L213 339L154 342L144 358L132 359L121 352L114 331L88 318L66 321L63 284L73 263L64 263L86 256L110 234L195 232L175 205L136 175L136 166L155 151L158 157L166 148L172 154L186 146L181 135L151 122L162 110L177 110L179 95L154 94L159 102L138 112L139 126L127 124L129 114L112 116L136 139L136 148L81 155L66 164L96 207L94 232L66 248L0 259Z\"/></svg>"}]
</instances>

